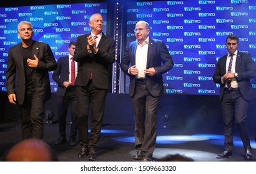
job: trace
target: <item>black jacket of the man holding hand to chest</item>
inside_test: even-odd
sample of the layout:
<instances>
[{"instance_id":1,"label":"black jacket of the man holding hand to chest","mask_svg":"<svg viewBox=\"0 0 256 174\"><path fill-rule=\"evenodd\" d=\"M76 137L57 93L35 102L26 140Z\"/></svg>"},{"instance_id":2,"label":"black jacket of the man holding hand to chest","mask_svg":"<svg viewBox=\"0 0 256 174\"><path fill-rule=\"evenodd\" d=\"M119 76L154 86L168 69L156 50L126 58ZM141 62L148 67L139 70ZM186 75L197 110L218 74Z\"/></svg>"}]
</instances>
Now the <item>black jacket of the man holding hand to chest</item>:
<instances>
[{"instance_id":1,"label":"black jacket of the man holding hand to chest","mask_svg":"<svg viewBox=\"0 0 256 174\"><path fill-rule=\"evenodd\" d=\"M37 94L47 101L51 98L48 71L55 70L57 68L57 63L52 50L47 43L33 41L32 55L34 54L39 58L39 62L37 68L31 68L32 81ZM18 103L23 103L26 90L26 79L21 43L9 48L6 88L8 95L16 93Z\"/></svg>"}]
</instances>

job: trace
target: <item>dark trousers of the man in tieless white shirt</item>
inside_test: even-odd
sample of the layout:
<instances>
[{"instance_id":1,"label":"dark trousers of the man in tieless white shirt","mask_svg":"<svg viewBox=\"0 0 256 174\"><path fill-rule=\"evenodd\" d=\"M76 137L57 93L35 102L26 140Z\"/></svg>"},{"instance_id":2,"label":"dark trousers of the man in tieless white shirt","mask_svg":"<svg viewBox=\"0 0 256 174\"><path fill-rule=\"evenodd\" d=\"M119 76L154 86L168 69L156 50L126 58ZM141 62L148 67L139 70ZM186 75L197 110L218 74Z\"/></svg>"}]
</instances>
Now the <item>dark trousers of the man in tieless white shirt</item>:
<instances>
[{"instance_id":1,"label":"dark trousers of the man in tieless white shirt","mask_svg":"<svg viewBox=\"0 0 256 174\"><path fill-rule=\"evenodd\" d=\"M135 150L152 157L157 137L157 110L160 96L149 93L145 81L136 81L132 108L135 121Z\"/></svg>"}]
</instances>

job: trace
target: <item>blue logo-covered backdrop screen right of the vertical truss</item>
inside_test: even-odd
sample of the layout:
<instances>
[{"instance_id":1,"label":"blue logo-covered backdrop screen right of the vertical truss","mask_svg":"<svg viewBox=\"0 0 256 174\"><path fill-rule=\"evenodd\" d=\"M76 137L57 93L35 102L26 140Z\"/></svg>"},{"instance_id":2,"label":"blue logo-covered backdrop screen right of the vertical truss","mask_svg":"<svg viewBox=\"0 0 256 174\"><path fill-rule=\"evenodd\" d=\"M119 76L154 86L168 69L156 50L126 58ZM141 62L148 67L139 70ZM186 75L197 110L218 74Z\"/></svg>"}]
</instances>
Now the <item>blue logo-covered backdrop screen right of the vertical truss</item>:
<instances>
[{"instance_id":1,"label":"blue logo-covered backdrop screen right of the vertical truss","mask_svg":"<svg viewBox=\"0 0 256 174\"><path fill-rule=\"evenodd\" d=\"M175 66L164 75L165 94L219 94L212 80L217 60L227 53L229 34L256 62L256 1L152 1L127 7L127 43L137 21L147 21L150 37L164 40ZM256 85L253 84L255 87Z\"/></svg>"}]
</instances>

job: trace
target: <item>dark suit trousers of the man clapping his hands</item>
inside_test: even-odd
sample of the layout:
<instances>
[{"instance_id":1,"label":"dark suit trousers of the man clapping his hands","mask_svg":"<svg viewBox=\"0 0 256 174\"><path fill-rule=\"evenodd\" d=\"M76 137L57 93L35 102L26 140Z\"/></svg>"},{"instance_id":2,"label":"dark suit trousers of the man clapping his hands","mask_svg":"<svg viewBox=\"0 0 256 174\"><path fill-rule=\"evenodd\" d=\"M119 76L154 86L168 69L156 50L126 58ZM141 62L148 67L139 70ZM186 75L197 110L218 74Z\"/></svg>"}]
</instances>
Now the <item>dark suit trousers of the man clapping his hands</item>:
<instances>
[{"instance_id":1,"label":"dark suit trousers of the man clapping his hands","mask_svg":"<svg viewBox=\"0 0 256 174\"><path fill-rule=\"evenodd\" d=\"M87 86L76 86L77 128L81 147L96 150L101 134L107 89L94 86L89 80ZM91 133L88 134L89 107L91 106Z\"/></svg>"}]
</instances>

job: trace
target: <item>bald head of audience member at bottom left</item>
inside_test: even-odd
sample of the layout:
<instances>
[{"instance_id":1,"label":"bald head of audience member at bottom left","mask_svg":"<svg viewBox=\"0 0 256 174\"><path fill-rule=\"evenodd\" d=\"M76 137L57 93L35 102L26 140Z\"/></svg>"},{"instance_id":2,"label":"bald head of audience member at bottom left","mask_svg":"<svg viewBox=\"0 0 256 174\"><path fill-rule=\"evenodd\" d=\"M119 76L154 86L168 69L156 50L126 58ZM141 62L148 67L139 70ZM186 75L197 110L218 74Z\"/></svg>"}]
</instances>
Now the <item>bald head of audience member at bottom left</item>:
<instances>
[{"instance_id":1,"label":"bald head of audience member at bottom left","mask_svg":"<svg viewBox=\"0 0 256 174\"><path fill-rule=\"evenodd\" d=\"M54 150L40 139L26 139L14 145L4 156L5 162L57 162Z\"/></svg>"}]
</instances>

